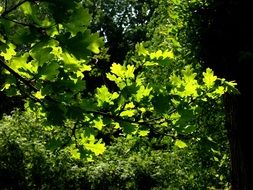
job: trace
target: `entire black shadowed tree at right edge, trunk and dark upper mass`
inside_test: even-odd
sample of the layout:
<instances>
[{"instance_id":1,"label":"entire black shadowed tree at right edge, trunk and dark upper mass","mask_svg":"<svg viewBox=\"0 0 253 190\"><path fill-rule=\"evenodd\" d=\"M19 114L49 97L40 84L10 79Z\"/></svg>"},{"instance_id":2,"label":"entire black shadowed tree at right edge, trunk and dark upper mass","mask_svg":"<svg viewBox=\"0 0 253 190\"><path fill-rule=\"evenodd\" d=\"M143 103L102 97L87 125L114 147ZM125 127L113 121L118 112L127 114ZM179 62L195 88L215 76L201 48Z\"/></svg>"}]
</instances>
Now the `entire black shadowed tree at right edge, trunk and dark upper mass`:
<instances>
[{"instance_id":1,"label":"entire black shadowed tree at right edge, trunk and dark upper mass","mask_svg":"<svg viewBox=\"0 0 253 190\"><path fill-rule=\"evenodd\" d=\"M219 77L236 80L240 91L225 96L233 190L253 190L252 4L251 0L214 0L195 17L199 58Z\"/></svg>"}]
</instances>

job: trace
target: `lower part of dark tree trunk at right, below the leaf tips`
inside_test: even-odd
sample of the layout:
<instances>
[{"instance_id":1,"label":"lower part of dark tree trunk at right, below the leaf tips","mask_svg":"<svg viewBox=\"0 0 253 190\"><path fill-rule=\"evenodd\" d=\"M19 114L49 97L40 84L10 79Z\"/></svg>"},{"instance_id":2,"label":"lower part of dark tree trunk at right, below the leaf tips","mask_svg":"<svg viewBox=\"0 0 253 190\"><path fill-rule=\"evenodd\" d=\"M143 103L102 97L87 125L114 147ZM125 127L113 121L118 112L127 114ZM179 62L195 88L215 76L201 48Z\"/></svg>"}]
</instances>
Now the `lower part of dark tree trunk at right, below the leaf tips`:
<instances>
[{"instance_id":1,"label":"lower part of dark tree trunk at right, below the leaf tips","mask_svg":"<svg viewBox=\"0 0 253 190\"><path fill-rule=\"evenodd\" d=\"M252 190L250 179L252 162L252 142L250 142L250 118L243 115L248 109L242 110L242 97L226 95L226 127L230 141L232 190Z\"/></svg>"}]
</instances>

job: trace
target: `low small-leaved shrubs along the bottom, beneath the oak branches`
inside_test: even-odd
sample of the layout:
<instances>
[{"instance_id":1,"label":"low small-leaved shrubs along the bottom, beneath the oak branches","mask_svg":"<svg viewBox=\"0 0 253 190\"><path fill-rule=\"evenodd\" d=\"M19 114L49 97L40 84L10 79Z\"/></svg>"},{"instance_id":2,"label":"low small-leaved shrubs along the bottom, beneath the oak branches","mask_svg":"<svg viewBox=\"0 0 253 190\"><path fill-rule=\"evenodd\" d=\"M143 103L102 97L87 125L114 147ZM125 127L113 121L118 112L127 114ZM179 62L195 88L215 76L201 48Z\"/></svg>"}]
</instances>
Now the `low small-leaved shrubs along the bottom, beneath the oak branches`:
<instances>
[{"instance_id":1,"label":"low small-leaved shrubs along the bottom, beneath the oak branches","mask_svg":"<svg viewBox=\"0 0 253 190\"><path fill-rule=\"evenodd\" d=\"M93 162L80 162L79 157L90 153L80 153L74 144L55 151L68 140L71 123L64 130L42 123L35 113L17 111L0 121L1 188L229 189L228 143L220 126L200 127L198 140L192 139L185 148L174 146L166 135L119 137ZM103 145L93 149L92 136L80 136L78 141L88 142L86 146L97 154L103 151Z\"/></svg>"}]
</instances>

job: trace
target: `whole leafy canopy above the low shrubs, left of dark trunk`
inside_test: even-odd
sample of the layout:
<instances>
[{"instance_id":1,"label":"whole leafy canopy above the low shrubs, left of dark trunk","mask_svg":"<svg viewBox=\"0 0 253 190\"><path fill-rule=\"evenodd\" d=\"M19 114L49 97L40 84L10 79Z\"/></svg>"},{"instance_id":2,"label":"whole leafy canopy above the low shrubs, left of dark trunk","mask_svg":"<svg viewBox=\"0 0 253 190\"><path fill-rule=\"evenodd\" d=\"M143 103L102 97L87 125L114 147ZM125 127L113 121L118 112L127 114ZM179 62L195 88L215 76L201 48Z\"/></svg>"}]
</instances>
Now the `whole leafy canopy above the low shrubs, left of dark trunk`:
<instances>
[{"instance_id":1,"label":"whole leafy canopy above the low shrubs, left of dark trunk","mask_svg":"<svg viewBox=\"0 0 253 190\"><path fill-rule=\"evenodd\" d=\"M121 136L215 144L203 127L224 124L222 96L238 91L189 46L196 6L207 3L2 0L1 93L43 123L46 149L76 160Z\"/></svg>"}]
</instances>

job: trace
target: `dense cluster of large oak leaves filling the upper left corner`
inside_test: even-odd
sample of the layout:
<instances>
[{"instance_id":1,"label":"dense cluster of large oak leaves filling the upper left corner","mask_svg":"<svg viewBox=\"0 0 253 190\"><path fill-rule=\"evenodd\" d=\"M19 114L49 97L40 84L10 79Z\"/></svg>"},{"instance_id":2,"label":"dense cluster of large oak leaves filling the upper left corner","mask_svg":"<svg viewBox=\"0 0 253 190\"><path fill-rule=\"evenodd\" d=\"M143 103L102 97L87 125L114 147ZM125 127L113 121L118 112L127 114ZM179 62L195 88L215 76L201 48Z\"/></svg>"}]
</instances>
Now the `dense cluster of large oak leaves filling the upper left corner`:
<instances>
[{"instance_id":1,"label":"dense cluster of large oak leaves filling the upper left corner","mask_svg":"<svg viewBox=\"0 0 253 190\"><path fill-rule=\"evenodd\" d=\"M9 95L29 94L28 109L42 106L38 111L45 112L49 122L62 125L68 118L83 117L74 111L80 112L82 108L73 108L82 102L80 93L85 90L85 72L92 69L90 56L99 53L103 39L87 28L91 17L78 1L62 1L62 10L56 10L58 3L24 1L13 10L6 4L6 11L11 11L7 15L3 12L1 17L1 28L6 31L6 38L1 36L1 56L5 60L2 64L22 77L12 80L13 73L4 71L3 89ZM28 31L31 41L16 40L21 30ZM34 107L34 102L39 104ZM83 141L82 144L95 154L103 151L99 142Z\"/></svg>"}]
</instances>

